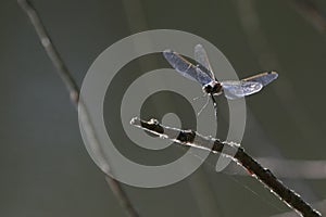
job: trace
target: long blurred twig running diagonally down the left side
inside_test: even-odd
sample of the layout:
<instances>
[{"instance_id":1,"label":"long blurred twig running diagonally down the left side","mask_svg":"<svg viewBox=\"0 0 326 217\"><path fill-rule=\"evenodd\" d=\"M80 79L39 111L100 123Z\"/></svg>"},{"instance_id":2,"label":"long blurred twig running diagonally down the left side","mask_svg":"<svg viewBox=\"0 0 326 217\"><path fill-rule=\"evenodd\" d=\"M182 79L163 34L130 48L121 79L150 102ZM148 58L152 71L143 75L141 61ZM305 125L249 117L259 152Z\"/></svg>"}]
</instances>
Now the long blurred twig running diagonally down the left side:
<instances>
[{"instance_id":1,"label":"long blurred twig running diagonally down the left side","mask_svg":"<svg viewBox=\"0 0 326 217\"><path fill-rule=\"evenodd\" d=\"M106 168L105 173L106 174L112 173L110 165L108 165L105 163L105 161L103 161L103 157L101 157L102 156L101 150L98 149L100 146L99 141L98 141L97 135L93 130L93 126L89 119L89 114L87 113L87 108L84 105L83 101L79 99L79 88L78 88L76 81L72 77L70 71L67 69L67 66L63 62L58 50L51 42L51 39L40 20L40 17L38 16L36 10L32 5L32 3L28 0L17 0L17 2L21 5L21 8L25 11L25 13L28 15L28 17L38 35L38 38L40 39L40 42L41 42L43 49L46 50L48 56L50 58L52 64L54 65L57 72L58 72L59 76L61 77L62 81L64 82L66 89L68 90L71 101L75 105L75 108L78 110L78 105L79 105L79 113L82 116L82 118L80 118L82 125L84 127L85 135L88 139L88 142L93 148L93 151L99 156L99 159L102 159L100 162L102 164L105 164L105 168ZM116 196L116 199L122 204L123 208L128 214L128 216L130 216L130 217L139 216L137 214L136 209L133 207L130 200L128 199L127 194L123 190L121 183L118 181L116 181L115 179L112 179L109 176L105 177L105 180L109 183L109 186L110 186L111 190L113 191L114 195Z\"/></svg>"}]
</instances>

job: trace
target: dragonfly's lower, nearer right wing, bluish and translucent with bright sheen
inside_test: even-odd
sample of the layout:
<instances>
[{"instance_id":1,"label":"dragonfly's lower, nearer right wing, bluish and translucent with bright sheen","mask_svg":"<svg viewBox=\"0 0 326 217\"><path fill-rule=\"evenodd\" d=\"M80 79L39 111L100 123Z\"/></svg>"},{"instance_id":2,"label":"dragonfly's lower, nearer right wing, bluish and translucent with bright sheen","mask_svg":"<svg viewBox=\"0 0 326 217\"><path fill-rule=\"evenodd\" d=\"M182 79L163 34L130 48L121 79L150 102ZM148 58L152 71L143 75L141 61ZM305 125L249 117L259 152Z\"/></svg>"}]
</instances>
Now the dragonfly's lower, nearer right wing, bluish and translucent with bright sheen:
<instances>
[{"instance_id":1,"label":"dragonfly's lower, nearer right wing, bluish and translucent with bright sheen","mask_svg":"<svg viewBox=\"0 0 326 217\"><path fill-rule=\"evenodd\" d=\"M253 94L263 88L261 82L246 80L226 80L221 82L221 85L224 95L229 100Z\"/></svg>"}]
</instances>

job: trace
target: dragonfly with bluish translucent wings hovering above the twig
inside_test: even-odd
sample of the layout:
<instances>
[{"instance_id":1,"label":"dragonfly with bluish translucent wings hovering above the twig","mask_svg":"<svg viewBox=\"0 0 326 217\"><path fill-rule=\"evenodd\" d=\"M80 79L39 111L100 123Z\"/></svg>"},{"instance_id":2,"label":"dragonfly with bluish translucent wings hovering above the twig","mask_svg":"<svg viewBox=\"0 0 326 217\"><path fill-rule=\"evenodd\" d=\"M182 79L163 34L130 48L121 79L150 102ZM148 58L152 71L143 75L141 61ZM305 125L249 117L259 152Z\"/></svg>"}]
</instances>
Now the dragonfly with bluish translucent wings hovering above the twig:
<instances>
[{"instance_id":1,"label":"dragonfly with bluish translucent wings hovering above the twig","mask_svg":"<svg viewBox=\"0 0 326 217\"><path fill-rule=\"evenodd\" d=\"M264 86L278 77L276 72L265 72L241 80L218 81L213 73L204 48L201 44L197 44L195 47L193 54L197 62L196 65L171 49L163 51L164 58L173 68L175 68L180 75L195 80L202 86L203 92L211 97L213 101L216 117L217 104L214 95L224 94L228 100L236 100L246 95L251 95L261 91ZM208 98L206 104L209 103L209 99L210 98Z\"/></svg>"}]
</instances>

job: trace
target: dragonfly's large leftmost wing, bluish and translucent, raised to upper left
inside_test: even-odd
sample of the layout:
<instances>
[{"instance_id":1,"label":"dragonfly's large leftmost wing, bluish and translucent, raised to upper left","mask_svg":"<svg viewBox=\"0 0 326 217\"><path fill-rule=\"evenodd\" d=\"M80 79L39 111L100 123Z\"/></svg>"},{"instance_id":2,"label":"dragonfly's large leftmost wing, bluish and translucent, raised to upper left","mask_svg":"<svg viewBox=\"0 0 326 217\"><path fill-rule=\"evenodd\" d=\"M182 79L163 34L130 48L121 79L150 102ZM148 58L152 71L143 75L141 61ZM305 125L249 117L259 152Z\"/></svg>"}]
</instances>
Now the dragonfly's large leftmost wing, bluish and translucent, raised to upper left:
<instances>
[{"instance_id":1,"label":"dragonfly's large leftmost wing, bluish and translucent, raised to upper left","mask_svg":"<svg viewBox=\"0 0 326 217\"><path fill-rule=\"evenodd\" d=\"M172 67L174 67L183 76L198 81L202 86L212 81L212 78L208 74L202 72L202 69L200 69L198 66L191 64L178 53L172 50L165 50L163 51L163 55L172 65Z\"/></svg>"}]
</instances>

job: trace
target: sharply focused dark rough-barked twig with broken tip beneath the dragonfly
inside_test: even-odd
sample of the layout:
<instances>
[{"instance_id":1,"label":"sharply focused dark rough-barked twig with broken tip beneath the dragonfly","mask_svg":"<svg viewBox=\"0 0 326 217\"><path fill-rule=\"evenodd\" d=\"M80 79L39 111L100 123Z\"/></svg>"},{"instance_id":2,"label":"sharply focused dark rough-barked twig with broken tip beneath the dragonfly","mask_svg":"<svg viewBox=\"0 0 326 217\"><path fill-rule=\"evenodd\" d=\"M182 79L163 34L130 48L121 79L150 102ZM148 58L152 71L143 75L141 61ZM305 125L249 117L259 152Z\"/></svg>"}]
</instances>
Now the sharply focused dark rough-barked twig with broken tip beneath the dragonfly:
<instances>
[{"instance_id":1,"label":"sharply focused dark rough-barked twig with broken tip beneath the dragonfly","mask_svg":"<svg viewBox=\"0 0 326 217\"><path fill-rule=\"evenodd\" d=\"M289 207L298 212L304 217L321 216L321 214L313 209L306 202L304 202L299 194L291 189L284 186L269 169L263 168L256 161L247 154L239 144L233 142L222 142L218 139L204 137L193 130L181 130L177 128L166 127L161 125L158 120L151 119L145 122L138 117L134 117L130 122L131 125L150 131L160 136L160 138L171 139L181 145L195 146L212 151L213 153L222 153L225 156L233 158L244 167L252 177L261 181L268 190L277 195ZM177 136L177 137L175 137ZM213 144L212 146L208 144ZM222 152L223 150L223 152ZM235 154L234 154L235 153Z\"/></svg>"}]
</instances>

